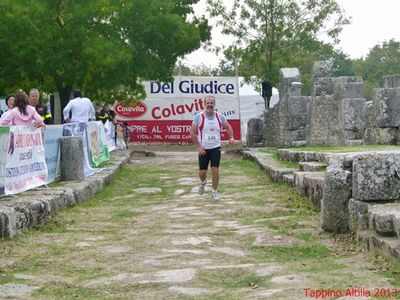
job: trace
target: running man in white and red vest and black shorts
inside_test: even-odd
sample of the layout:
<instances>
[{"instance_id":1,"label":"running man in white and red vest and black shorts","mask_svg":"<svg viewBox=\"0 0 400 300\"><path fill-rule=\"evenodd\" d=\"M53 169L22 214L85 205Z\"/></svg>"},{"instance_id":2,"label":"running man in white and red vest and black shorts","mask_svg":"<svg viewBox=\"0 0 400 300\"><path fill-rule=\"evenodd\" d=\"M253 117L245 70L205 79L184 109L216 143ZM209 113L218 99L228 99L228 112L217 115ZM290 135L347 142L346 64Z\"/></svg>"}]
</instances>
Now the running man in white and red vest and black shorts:
<instances>
[{"instance_id":1,"label":"running man in white and red vest and black shorts","mask_svg":"<svg viewBox=\"0 0 400 300\"><path fill-rule=\"evenodd\" d=\"M233 129L224 115L215 111L215 98L204 98L205 109L196 114L190 130L190 137L195 145L199 158L199 194L203 195L206 186L208 165L211 164L212 193L211 199L217 201L219 183L219 163L221 160L221 130L229 135L229 143L235 143Z\"/></svg>"}]
</instances>

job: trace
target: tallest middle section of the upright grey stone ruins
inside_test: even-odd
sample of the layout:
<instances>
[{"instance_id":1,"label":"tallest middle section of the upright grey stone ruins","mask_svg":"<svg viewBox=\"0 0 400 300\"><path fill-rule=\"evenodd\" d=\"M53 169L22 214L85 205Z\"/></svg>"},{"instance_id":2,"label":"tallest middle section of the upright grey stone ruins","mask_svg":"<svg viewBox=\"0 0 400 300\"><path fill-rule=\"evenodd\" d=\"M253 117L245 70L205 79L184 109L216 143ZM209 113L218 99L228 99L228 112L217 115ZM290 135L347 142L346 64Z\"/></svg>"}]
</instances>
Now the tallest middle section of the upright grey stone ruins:
<instances>
[{"instance_id":1,"label":"tallest middle section of the upright grey stone ruins","mask_svg":"<svg viewBox=\"0 0 400 300\"><path fill-rule=\"evenodd\" d=\"M361 144L365 115L361 78L334 78L331 61L316 62L309 114L307 145Z\"/></svg>"}]
</instances>

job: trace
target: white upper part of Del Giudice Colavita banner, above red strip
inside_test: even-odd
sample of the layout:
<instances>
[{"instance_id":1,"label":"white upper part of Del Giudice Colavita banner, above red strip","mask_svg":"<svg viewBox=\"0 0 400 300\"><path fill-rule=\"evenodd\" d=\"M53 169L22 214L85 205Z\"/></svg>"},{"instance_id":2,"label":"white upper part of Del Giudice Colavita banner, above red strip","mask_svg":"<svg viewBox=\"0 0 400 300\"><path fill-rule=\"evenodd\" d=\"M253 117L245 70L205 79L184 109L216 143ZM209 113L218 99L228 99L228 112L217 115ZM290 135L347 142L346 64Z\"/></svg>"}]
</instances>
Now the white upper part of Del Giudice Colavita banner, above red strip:
<instances>
[{"instance_id":1,"label":"white upper part of Del Giudice Colavita banner, above red strip","mask_svg":"<svg viewBox=\"0 0 400 300\"><path fill-rule=\"evenodd\" d=\"M172 82L144 83L146 100L115 106L118 120L192 120L204 110L204 98L213 96L216 109L227 119L239 119L239 92L235 77L176 77Z\"/></svg>"}]
</instances>

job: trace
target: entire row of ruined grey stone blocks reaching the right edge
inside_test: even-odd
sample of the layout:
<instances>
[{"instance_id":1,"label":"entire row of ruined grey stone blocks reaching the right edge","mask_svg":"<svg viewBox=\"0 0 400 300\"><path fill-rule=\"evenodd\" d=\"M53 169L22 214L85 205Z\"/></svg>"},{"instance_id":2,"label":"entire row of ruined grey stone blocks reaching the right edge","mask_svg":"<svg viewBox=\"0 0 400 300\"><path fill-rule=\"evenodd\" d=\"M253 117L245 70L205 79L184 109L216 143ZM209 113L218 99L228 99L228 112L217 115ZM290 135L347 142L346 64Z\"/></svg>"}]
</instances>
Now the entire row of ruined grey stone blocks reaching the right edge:
<instances>
[{"instance_id":1,"label":"entire row of ruined grey stone blocks reaching the right edge","mask_svg":"<svg viewBox=\"0 0 400 300\"><path fill-rule=\"evenodd\" d=\"M400 143L400 75L384 77L367 102L360 77L333 77L332 61L317 61L312 85L312 95L302 96L299 70L281 69L279 102L265 114L265 146Z\"/></svg>"}]
</instances>

